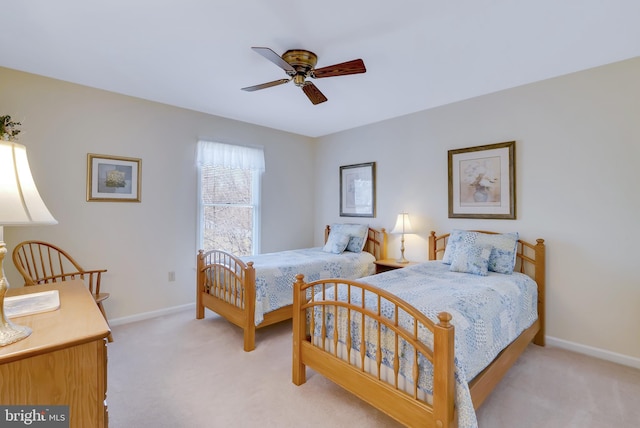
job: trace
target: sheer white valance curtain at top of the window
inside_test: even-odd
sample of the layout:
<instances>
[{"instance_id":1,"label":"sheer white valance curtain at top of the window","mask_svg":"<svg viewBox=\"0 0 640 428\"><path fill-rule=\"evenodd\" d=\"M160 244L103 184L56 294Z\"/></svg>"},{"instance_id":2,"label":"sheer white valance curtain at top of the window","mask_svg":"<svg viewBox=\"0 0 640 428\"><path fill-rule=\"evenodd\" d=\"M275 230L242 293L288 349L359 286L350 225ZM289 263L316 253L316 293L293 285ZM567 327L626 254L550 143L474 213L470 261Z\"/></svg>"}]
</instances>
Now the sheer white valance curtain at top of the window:
<instances>
[{"instance_id":1,"label":"sheer white valance curtain at top of the window","mask_svg":"<svg viewBox=\"0 0 640 428\"><path fill-rule=\"evenodd\" d=\"M198 141L198 165L224 166L264 172L264 150L234 144Z\"/></svg>"}]
</instances>

